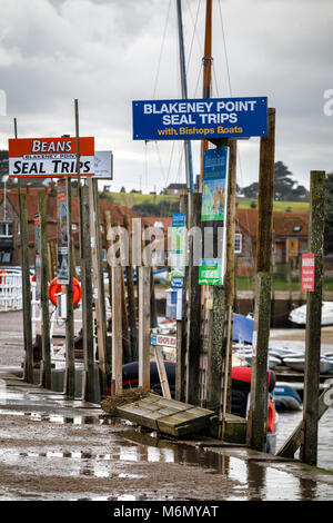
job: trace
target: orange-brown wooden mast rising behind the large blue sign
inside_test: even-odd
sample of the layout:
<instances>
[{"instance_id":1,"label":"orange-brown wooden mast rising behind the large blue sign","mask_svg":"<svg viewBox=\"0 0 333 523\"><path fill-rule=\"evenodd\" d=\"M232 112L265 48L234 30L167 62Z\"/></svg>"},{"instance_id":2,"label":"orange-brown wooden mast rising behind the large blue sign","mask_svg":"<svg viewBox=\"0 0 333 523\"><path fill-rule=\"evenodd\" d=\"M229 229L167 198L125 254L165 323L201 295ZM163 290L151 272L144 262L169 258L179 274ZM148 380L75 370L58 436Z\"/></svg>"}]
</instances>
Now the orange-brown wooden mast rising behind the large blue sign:
<instances>
[{"instance_id":1,"label":"orange-brown wooden mast rising behind the large blue sign","mask_svg":"<svg viewBox=\"0 0 333 523\"><path fill-rule=\"evenodd\" d=\"M211 72L212 72L212 0L206 0L205 6L205 34L204 34L204 57L203 61L203 89L202 98L211 97ZM201 179L200 190L203 185L203 162L204 151L208 149L208 140L201 141Z\"/></svg>"}]
</instances>

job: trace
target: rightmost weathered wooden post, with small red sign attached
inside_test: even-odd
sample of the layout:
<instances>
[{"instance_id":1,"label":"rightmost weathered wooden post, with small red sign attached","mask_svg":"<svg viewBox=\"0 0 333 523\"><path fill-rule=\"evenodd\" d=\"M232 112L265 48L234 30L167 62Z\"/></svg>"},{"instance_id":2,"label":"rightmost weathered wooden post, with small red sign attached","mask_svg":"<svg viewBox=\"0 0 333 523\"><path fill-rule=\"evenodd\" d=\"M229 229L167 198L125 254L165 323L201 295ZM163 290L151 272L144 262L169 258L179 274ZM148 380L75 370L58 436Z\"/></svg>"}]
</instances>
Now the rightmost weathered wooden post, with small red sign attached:
<instances>
[{"instance_id":1,"label":"rightmost weathered wooden post, with small red sign attached","mask_svg":"<svg viewBox=\"0 0 333 523\"><path fill-rule=\"evenodd\" d=\"M320 395L323 245L325 221L325 172L311 171L310 251L314 254L314 292L307 293L303 435L301 461L316 465Z\"/></svg>"}]
</instances>

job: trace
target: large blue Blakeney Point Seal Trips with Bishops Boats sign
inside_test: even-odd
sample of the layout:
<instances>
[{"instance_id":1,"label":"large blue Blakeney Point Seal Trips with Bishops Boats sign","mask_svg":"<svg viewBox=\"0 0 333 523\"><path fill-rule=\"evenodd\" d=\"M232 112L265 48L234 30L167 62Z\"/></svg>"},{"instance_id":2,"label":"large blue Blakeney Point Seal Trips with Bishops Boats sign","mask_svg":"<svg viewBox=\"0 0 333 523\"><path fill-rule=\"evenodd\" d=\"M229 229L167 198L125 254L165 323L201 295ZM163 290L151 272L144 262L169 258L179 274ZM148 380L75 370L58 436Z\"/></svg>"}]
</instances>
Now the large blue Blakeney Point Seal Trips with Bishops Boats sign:
<instances>
[{"instance_id":1,"label":"large blue Blakeney Point Seal Trips with Bishops Boats sign","mask_svg":"<svg viewBox=\"0 0 333 523\"><path fill-rule=\"evenodd\" d=\"M134 100L134 140L268 136L268 98Z\"/></svg>"}]
</instances>

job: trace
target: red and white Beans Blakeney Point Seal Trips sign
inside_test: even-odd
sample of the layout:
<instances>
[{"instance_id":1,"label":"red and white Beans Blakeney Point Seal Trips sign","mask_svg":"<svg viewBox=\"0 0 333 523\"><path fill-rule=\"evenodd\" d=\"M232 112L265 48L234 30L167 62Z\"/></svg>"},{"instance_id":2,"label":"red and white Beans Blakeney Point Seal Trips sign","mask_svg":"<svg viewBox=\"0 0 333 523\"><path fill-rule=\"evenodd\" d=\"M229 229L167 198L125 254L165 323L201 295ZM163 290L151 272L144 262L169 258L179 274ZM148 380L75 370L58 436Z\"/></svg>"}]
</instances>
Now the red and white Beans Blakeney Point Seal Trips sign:
<instances>
[{"instance_id":1,"label":"red and white Beans Blakeney Point Seal Trips sign","mask_svg":"<svg viewBox=\"0 0 333 523\"><path fill-rule=\"evenodd\" d=\"M80 171L94 174L94 138L80 138ZM10 138L9 177L60 178L77 175L77 138Z\"/></svg>"}]
</instances>

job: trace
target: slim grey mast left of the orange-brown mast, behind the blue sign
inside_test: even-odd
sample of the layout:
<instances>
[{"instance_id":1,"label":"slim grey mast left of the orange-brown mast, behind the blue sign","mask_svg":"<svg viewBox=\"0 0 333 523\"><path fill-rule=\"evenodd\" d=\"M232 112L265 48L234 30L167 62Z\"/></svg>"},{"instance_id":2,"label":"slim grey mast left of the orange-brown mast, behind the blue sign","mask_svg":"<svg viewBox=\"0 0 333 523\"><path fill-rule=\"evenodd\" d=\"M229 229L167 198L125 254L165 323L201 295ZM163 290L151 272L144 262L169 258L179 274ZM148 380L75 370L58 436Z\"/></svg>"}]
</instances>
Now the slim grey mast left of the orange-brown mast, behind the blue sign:
<instances>
[{"instance_id":1,"label":"slim grey mast left of the orange-brown mast, behind the blue sign","mask_svg":"<svg viewBox=\"0 0 333 523\"><path fill-rule=\"evenodd\" d=\"M188 82L186 82L181 0L176 0L176 14L178 14L179 58L180 58L180 70L181 70L182 98L188 99ZM192 148L191 148L190 140L184 140L184 150L185 150L186 187L190 193L193 193Z\"/></svg>"}]
</instances>

